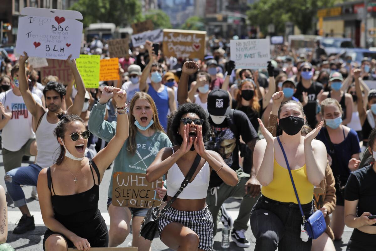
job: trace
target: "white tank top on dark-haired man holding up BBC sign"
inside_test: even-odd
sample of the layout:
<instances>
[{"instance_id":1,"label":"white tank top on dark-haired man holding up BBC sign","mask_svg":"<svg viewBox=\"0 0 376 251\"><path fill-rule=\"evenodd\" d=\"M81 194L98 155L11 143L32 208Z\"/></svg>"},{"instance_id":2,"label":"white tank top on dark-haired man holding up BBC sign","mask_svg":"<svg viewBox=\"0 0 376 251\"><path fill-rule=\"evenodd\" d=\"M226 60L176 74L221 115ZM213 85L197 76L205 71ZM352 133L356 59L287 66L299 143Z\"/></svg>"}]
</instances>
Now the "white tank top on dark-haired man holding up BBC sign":
<instances>
[{"instance_id":1,"label":"white tank top on dark-haired man holding up BBC sign","mask_svg":"<svg viewBox=\"0 0 376 251\"><path fill-rule=\"evenodd\" d=\"M51 124L47 121L47 112L43 114L41 123L35 132L36 149L38 154L36 155L35 164L45 168L52 166L54 158L57 158L60 154L60 144L53 135L58 123Z\"/></svg>"}]
</instances>

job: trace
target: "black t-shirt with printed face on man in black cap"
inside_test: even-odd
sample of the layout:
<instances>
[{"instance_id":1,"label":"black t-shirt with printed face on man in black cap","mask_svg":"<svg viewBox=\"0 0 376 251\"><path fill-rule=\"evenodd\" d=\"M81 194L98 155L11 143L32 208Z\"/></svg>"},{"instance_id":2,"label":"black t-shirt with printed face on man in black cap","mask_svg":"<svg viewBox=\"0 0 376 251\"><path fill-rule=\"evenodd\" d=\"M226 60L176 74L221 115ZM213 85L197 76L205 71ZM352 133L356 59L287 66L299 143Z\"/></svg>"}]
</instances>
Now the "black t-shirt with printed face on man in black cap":
<instances>
[{"instance_id":1,"label":"black t-shirt with printed face on man in black cap","mask_svg":"<svg viewBox=\"0 0 376 251\"><path fill-rule=\"evenodd\" d=\"M211 125L211 136L209 140L205 142L205 148L218 152L229 167L233 170L238 170L240 168L240 143L237 140L235 133L230 129L230 126L227 123L227 118L220 125L213 123L210 117L209 122ZM233 124L237 126L238 134L241 135L244 142L248 143L258 137L255 128L253 128L247 115L242 111L234 111ZM212 172L210 175L209 187L216 187L222 183L223 181L217 173Z\"/></svg>"}]
</instances>

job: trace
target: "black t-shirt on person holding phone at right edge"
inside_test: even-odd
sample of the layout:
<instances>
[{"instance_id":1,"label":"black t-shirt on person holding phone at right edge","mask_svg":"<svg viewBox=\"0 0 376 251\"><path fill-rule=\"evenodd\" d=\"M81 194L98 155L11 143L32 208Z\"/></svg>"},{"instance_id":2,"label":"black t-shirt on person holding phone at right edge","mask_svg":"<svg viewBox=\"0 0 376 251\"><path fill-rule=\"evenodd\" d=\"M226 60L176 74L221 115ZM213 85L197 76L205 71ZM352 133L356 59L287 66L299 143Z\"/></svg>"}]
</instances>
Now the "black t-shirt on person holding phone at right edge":
<instances>
[{"instance_id":1,"label":"black t-shirt on person holding phone at right edge","mask_svg":"<svg viewBox=\"0 0 376 251\"><path fill-rule=\"evenodd\" d=\"M347 201L358 201L356 216L361 216L364 212L376 214L376 173L372 165L365 166L352 172L345 187L345 199ZM373 224L376 226L376 224Z\"/></svg>"}]
</instances>

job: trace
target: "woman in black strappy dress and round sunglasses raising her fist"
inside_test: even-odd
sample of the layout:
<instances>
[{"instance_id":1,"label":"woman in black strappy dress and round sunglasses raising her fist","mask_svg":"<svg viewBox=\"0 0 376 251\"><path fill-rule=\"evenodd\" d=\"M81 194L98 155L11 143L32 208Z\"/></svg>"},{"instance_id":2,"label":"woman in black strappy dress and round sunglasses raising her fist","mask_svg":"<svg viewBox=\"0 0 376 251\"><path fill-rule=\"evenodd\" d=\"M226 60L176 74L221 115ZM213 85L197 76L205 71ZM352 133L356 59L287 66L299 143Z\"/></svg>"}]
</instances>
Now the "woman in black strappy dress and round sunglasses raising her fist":
<instances>
[{"instance_id":1,"label":"woman in black strappy dress and round sunglasses raising her fist","mask_svg":"<svg viewBox=\"0 0 376 251\"><path fill-rule=\"evenodd\" d=\"M103 93L114 96L119 108L116 135L93 159L84 158L89 132L82 119L75 114L59 114L54 134L61 144L60 155L55 164L41 170L37 184L42 218L48 228L43 250L108 246L107 226L98 209L99 184L123 147L129 129L125 91L105 87Z\"/></svg>"}]
</instances>

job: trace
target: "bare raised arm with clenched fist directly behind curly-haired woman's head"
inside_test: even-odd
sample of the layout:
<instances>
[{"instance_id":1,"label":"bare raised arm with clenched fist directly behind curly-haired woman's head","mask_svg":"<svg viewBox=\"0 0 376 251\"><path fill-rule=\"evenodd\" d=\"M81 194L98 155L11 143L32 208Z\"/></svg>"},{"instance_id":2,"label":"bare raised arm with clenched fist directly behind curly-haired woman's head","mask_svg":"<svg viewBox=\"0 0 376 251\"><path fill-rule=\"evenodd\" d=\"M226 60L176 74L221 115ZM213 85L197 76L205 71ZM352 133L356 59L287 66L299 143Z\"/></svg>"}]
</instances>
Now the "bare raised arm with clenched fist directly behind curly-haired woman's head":
<instances>
[{"instance_id":1,"label":"bare raised arm with clenched fist directly behind curly-haired woman's head","mask_svg":"<svg viewBox=\"0 0 376 251\"><path fill-rule=\"evenodd\" d=\"M188 79L189 76L196 73L197 70L199 70L199 65L196 62L186 61L183 64L182 75L177 85L177 102L180 105L191 102L191 100L188 99Z\"/></svg>"}]
</instances>

